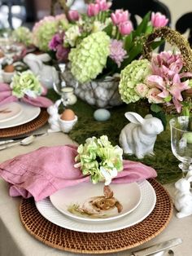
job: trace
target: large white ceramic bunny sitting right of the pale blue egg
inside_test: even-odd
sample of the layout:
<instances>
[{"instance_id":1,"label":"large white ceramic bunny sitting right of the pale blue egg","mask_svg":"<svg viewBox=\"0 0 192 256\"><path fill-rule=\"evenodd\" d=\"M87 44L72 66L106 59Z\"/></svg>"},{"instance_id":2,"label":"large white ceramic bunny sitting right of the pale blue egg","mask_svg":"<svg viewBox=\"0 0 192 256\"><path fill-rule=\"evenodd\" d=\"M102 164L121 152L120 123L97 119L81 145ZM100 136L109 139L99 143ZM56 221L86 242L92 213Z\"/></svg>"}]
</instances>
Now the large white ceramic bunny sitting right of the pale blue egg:
<instances>
[{"instance_id":1,"label":"large white ceramic bunny sitting right of the pale blue egg","mask_svg":"<svg viewBox=\"0 0 192 256\"><path fill-rule=\"evenodd\" d=\"M120 146L124 153L135 154L139 159L153 155L157 135L164 130L162 122L150 114L142 118L137 113L127 112L124 116L130 121L120 132Z\"/></svg>"}]
</instances>

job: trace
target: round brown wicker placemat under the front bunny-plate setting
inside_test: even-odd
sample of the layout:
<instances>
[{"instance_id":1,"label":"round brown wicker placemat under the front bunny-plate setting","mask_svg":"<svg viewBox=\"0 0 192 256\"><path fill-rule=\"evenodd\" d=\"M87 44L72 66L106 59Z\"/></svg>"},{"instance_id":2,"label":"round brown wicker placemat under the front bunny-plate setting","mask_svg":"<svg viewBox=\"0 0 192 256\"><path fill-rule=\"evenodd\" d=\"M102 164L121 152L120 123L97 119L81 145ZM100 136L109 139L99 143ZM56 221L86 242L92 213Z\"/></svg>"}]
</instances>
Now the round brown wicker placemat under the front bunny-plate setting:
<instances>
[{"instance_id":1,"label":"round brown wicker placemat under the front bunny-plate setting","mask_svg":"<svg viewBox=\"0 0 192 256\"><path fill-rule=\"evenodd\" d=\"M31 235L56 249L76 254L106 254L130 249L159 235L172 217L173 207L168 192L155 179L149 182L157 197L155 209L141 223L120 231L85 233L59 227L41 216L33 198L22 199L20 218Z\"/></svg>"}]
</instances>

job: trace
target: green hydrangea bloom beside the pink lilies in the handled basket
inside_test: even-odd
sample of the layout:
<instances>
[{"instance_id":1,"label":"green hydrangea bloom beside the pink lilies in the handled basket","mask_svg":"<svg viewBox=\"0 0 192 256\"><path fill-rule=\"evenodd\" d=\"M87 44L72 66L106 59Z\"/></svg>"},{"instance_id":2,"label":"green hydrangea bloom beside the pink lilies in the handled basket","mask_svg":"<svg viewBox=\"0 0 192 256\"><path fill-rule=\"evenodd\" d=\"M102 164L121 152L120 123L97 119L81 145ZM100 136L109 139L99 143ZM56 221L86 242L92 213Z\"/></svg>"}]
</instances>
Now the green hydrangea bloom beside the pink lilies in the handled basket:
<instances>
[{"instance_id":1,"label":"green hydrangea bloom beside the pink lilies in the handled basket","mask_svg":"<svg viewBox=\"0 0 192 256\"><path fill-rule=\"evenodd\" d=\"M120 73L119 91L121 99L129 104L140 99L135 91L138 83L144 83L146 76L151 74L151 64L149 60L133 60Z\"/></svg>"}]
</instances>

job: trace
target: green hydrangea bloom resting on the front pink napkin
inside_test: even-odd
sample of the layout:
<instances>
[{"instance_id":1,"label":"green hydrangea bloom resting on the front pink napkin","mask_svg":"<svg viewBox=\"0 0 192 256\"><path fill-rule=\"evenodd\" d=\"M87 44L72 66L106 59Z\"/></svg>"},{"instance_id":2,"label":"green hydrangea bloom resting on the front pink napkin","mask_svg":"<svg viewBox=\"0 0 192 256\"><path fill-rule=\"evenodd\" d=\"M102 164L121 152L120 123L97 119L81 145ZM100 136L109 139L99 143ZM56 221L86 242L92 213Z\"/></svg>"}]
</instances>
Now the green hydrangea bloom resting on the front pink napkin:
<instances>
[{"instance_id":1,"label":"green hydrangea bloom resting on the front pink napkin","mask_svg":"<svg viewBox=\"0 0 192 256\"><path fill-rule=\"evenodd\" d=\"M77 152L75 167L80 167L84 175L89 174L93 183L105 181L108 185L123 170L123 150L117 145L113 147L106 135L86 139Z\"/></svg>"}]
</instances>

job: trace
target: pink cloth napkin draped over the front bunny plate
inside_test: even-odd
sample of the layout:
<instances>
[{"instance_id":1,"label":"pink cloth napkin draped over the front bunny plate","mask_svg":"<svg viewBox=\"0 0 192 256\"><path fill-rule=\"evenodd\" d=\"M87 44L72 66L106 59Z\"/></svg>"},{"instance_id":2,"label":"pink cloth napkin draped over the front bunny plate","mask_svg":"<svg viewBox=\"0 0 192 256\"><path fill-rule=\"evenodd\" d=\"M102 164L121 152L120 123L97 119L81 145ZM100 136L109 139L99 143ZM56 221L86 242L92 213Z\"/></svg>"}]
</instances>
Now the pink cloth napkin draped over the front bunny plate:
<instances>
[{"instance_id":1,"label":"pink cloth napkin draped over the front bunny plate","mask_svg":"<svg viewBox=\"0 0 192 256\"><path fill-rule=\"evenodd\" d=\"M41 201L59 189L89 182L89 176L74 167L76 155L76 146L72 145L39 148L2 163L0 177L10 183L11 196L33 196ZM112 182L131 183L156 175L149 166L124 160L124 170Z\"/></svg>"}]
</instances>

